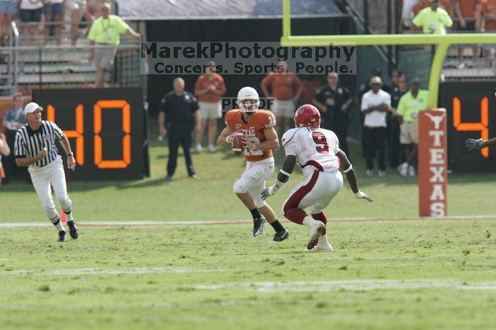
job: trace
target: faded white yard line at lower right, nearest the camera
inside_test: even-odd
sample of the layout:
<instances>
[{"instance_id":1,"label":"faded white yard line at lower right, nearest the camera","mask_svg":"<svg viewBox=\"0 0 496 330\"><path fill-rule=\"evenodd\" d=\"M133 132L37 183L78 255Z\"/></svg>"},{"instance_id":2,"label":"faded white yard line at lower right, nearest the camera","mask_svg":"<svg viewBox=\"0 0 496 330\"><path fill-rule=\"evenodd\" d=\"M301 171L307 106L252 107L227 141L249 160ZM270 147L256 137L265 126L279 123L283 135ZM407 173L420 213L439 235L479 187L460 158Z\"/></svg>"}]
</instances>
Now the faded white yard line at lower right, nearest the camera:
<instances>
[{"instance_id":1,"label":"faded white yard line at lower right, nearest the camera","mask_svg":"<svg viewBox=\"0 0 496 330\"><path fill-rule=\"evenodd\" d=\"M334 280L229 283L222 285L194 285L200 290L240 289L257 292L315 292L315 291L371 291L371 290L496 290L496 281L463 283L458 280Z\"/></svg>"}]
</instances>

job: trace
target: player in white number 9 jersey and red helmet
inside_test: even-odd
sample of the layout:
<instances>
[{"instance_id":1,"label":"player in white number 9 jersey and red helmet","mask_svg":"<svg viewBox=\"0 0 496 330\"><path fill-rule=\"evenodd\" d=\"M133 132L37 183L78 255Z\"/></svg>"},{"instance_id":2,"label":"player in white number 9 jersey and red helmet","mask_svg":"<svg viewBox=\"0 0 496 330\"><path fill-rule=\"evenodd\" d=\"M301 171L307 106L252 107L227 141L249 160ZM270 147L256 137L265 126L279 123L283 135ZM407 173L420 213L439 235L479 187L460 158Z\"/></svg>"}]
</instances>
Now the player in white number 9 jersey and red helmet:
<instances>
[{"instance_id":1,"label":"player in white number 9 jersey and red helmet","mask_svg":"<svg viewBox=\"0 0 496 330\"><path fill-rule=\"evenodd\" d=\"M286 152L283 168L276 183L261 193L265 200L274 195L288 182L296 162L307 178L296 186L283 204L283 215L297 224L310 229L307 249L309 251L332 251L327 241L327 217L324 209L343 187L346 178L356 198L372 202L372 198L359 190L356 173L346 154L339 149L334 132L320 128L320 113L315 106L300 106L295 114L295 128L283 135L282 144ZM309 208L311 217L305 213Z\"/></svg>"}]
</instances>

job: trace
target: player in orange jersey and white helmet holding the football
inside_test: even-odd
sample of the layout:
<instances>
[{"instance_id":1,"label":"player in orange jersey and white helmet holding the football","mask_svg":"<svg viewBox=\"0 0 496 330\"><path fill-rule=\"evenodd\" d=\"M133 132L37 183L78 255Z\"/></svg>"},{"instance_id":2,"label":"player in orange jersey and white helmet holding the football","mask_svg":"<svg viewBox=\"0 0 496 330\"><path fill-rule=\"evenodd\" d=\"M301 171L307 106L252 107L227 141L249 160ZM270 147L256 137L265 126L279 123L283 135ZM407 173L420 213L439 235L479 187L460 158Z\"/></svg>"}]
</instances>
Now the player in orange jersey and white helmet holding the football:
<instances>
[{"instance_id":1,"label":"player in orange jersey and white helmet holding the football","mask_svg":"<svg viewBox=\"0 0 496 330\"><path fill-rule=\"evenodd\" d=\"M274 129L274 114L271 111L259 110L259 103L259 94L255 89L240 89L237 93L239 109L230 110L225 114L226 127L220 133L217 144L231 144L233 134L243 133L247 167L232 190L252 212L253 235L261 234L267 220L276 231L273 241L283 241L289 237L288 230L277 220L274 210L261 199L265 181L274 173L272 149L279 147L279 140Z\"/></svg>"}]
</instances>

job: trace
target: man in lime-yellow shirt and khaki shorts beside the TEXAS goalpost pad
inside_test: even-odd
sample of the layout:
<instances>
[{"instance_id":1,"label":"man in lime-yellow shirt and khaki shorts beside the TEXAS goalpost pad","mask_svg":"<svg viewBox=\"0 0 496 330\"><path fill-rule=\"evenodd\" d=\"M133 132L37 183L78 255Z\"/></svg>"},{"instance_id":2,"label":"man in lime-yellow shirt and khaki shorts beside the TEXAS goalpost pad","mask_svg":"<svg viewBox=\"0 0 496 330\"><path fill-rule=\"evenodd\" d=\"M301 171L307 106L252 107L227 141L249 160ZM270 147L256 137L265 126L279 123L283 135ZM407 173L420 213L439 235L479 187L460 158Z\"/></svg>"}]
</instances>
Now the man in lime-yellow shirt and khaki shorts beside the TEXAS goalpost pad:
<instances>
[{"instance_id":1,"label":"man in lime-yellow shirt and khaki shorts beside the TEXAS goalpost pad","mask_svg":"<svg viewBox=\"0 0 496 330\"><path fill-rule=\"evenodd\" d=\"M419 111L428 108L429 91L420 89L420 80L415 78L410 91L400 98L396 114L400 116L400 143L405 149L405 162L398 169L401 176L415 176L417 144L419 143Z\"/></svg>"}]
</instances>

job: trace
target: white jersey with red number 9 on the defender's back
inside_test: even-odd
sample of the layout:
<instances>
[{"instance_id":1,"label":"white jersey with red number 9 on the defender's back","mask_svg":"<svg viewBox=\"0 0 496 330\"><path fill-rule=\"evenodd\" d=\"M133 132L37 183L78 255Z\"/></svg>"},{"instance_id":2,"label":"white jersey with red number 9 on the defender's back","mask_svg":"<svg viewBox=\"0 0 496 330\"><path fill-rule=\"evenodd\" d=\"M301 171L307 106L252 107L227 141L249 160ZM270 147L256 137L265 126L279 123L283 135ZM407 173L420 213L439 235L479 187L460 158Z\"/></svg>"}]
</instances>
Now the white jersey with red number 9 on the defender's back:
<instances>
[{"instance_id":1,"label":"white jersey with red number 9 on the defender's back","mask_svg":"<svg viewBox=\"0 0 496 330\"><path fill-rule=\"evenodd\" d=\"M296 127L283 135L286 156L294 155L303 175L314 171L339 171L339 140L334 132L322 128Z\"/></svg>"}]
</instances>

